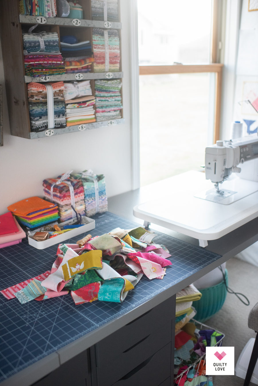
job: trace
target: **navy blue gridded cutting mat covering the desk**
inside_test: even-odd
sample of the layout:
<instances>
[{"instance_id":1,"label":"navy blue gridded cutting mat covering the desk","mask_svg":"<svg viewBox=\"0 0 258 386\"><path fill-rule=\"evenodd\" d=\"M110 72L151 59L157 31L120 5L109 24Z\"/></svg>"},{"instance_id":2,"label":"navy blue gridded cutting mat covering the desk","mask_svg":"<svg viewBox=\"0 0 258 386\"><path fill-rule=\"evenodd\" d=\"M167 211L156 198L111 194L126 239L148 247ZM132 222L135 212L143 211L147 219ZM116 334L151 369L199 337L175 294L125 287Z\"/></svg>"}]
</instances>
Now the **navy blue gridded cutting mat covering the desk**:
<instances>
[{"instance_id":1,"label":"navy blue gridded cutting mat covering the desk","mask_svg":"<svg viewBox=\"0 0 258 386\"><path fill-rule=\"evenodd\" d=\"M93 217L92 237L116 227L139 225L113 213ZM123 303L94 301L75 305L70 294L24 305L0 294L0 382L70 342L127 313L153 296L220 258L219 255L166 234L156 232L154 242L166 245L173 263L163 280L142 278ZM80 236L82 238L83 235ZM66 241L76 243L78 236ZM47 270L56 258L57 244L43 250L22 243L0 249L0 289L30 279Z\"/></svg>"}]
</instances>

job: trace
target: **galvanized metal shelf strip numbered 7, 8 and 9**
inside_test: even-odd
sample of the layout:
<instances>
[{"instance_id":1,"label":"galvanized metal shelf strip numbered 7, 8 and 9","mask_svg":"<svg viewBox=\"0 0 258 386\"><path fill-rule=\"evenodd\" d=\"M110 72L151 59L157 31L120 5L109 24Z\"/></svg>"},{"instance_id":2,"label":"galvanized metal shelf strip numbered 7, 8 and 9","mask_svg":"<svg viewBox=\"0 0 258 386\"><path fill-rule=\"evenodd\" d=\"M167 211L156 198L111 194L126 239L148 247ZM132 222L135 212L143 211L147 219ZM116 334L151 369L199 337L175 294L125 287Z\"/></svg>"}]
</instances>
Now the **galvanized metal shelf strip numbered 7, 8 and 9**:
<instances>
[{"instance_id":1,"label":"galvanized metal shelf strip numbered 7, 8 and 9","mask_svg":"<svg viewBox=\"0 0 258 386\"><path fill-rule=\"evenodd\" d=\"M85 131L85 130L91 130L91 129L97 129L99 127L105 127L105 126L114 126L114 125L121 125L125 122L124 118L121 119L114 119L109 121L99 121L99 122L93 122L93 123L87 123L84 125L75 125L75 126L68 126L64 127L63 129L48 129L40 132L31 132L31 139L34 138L43 138L43 137L51 137L52 135L60 135L60 134L66 134L66 133L74 133L76 131Z\"/></svg>"}]
</instances>

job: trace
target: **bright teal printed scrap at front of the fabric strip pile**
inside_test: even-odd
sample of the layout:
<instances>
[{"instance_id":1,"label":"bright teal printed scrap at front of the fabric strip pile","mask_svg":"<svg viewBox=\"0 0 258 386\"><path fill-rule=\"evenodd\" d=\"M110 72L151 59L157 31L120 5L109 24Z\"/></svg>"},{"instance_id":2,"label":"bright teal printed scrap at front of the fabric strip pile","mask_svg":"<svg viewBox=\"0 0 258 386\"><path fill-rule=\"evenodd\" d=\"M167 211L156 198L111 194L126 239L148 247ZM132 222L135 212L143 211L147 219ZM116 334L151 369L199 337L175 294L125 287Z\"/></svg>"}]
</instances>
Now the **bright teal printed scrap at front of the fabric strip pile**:
<instances>
[{"instance_id":1,"label":"bright teal printed scrap at front of the fabric strip pile","mask_svg":"<svg viewBox=\"0 0 258 386\"><path fill-rule=\"evenodd\" d=\"M99 288L98 300L102 301L114 301L121 303L122 293L125 288L125 279L123 278L112 278L107 279Z\"/></svg>"}]
</instances>

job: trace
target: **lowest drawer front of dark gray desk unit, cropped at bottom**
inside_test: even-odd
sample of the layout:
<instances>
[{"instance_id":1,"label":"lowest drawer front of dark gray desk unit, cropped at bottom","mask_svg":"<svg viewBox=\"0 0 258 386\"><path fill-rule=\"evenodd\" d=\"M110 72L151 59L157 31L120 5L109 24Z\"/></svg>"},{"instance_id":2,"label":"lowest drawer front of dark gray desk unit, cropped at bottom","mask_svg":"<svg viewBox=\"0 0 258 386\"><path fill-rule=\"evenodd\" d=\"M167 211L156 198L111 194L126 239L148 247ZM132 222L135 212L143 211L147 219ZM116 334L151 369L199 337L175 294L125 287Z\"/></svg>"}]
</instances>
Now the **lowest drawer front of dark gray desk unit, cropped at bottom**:
<instances>
[{"instance_id":1,"label":"lowest drawer front of dark gray desk unit, cropped at bottom","mask_svg":"<svg viewBox=\"0 0 258 386\"><path fill-rule=\"evenodd\" d=\"M171 343L156 352L133 371L123 376L113 386L159 386L171 373ZM165 383L166 385L166 383Z\"/></svg>"}]
</instances>

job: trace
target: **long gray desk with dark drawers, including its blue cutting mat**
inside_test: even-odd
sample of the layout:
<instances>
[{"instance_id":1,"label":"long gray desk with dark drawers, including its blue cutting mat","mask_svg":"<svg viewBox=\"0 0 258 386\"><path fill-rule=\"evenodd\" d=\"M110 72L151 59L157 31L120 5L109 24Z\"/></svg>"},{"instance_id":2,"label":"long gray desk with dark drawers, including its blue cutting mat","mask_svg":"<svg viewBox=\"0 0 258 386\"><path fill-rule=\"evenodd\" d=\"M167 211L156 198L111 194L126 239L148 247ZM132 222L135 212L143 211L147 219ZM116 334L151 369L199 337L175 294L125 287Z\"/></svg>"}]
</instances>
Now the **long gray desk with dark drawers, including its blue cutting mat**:
<instances>
[{"instance_id":1,"label":"long gray desk with dark drawers, including its blue cutting mat","mask_svg":"<svg viewBox=\"0 0 258 386\"><path fill-rule=\"evenodd\" d=\"M151 198L150 190L110 198L109 210L116 214L94 216L92 236L139 225L132 208L143 196ZM154 240L166 245L173 265L167 267L163 280L141 279L121 304L94 301L75 306L65 295L21 305L1 295L1 386L61 381L62 385L127 386L141 379L149 386L172 385L176 292L257 241L257 225L254 219L205 249L196 245L196 239L157 226ZM50 269L56 247L38 250L23 240L0 249L0 289ZM155 376L153 366L161 369Z\"/></svg>"}]
</instances>

